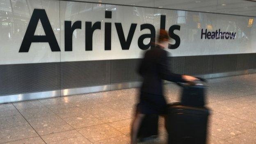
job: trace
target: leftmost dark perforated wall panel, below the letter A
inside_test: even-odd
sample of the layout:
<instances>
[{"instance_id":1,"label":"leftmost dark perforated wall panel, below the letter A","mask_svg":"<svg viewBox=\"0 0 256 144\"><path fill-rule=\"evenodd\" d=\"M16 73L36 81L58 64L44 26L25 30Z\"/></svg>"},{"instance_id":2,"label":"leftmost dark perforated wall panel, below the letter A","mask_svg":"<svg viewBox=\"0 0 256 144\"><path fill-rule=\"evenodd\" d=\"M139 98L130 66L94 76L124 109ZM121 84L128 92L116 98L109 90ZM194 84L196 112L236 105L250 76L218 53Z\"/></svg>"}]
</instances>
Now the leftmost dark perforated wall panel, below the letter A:
<instances>
[{"instance_id":1,"label":"leftmost dark perforated wall panel, below the letter A","mask_svg":"<svg viewBox=\"0 0 256 144\"><path fill-rule=\"evenodd\" d=\"M59 63L0 65L0 95L60 88Z\"/></svg>"}]
</instances>

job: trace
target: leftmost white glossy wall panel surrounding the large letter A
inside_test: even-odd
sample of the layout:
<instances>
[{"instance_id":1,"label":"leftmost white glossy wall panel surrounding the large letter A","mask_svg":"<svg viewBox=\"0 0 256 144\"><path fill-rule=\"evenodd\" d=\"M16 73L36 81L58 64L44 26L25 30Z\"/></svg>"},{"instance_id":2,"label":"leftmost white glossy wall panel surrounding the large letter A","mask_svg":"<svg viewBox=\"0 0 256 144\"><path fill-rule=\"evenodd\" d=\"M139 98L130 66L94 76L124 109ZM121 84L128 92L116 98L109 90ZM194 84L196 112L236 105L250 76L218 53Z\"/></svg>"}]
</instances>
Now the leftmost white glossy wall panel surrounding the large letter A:
<instances>
[{"instance_id":1,"label":"leftmost white glossy wall panel surrounding the large letter A","mask_svg":"<svg viewBox=\"0 0 256 144\"><path fill-rule=\"evenodd\" d=\"M51 52L48 43L32 43L28 53L19 53L34 9L45 9L59 43L59 1L11 0L12 11L0 11L0 64L59 62L60 53ZM39 22L35 35L43 35Z\"/></svg>"}]
</instances>

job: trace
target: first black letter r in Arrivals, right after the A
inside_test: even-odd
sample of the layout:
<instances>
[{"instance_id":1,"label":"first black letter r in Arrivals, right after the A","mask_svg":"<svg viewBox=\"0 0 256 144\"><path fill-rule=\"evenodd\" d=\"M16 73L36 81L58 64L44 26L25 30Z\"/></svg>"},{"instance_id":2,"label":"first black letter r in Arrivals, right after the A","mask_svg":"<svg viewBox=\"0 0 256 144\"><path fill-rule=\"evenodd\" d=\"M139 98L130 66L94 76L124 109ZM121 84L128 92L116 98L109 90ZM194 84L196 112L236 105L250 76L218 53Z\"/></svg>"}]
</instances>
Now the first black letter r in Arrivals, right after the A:
<instances>
[{"instance_id":1,"label":"first black letter r in Arrivals, right after the A","mask_svg":"<svg viewBox=\"0 0 256 144\"><path fill-rule=\"evenodd\" d=\"M71 21L65 21L65 51L73 50L73 32L75 29L81 29L82 22L76 21L71 26Z\"/></svg>"}]
</instances>

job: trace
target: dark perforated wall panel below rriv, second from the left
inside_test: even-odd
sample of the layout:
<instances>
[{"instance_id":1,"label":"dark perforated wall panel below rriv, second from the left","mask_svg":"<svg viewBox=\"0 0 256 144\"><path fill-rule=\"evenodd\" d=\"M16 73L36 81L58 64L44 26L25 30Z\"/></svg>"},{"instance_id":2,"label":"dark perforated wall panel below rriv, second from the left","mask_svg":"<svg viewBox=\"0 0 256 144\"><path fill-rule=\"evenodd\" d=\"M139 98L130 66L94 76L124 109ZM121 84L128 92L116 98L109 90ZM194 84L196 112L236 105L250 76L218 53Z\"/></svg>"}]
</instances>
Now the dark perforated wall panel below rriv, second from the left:
<instances>
[{"instance_id":1,"label":"dark perforated wall panel below rriv, second from the left","mask_svg":"<svg viewBox=\"0 0 256 144\"><path fill-rule=\"evenodd\" d=\"M62 62L61 88L110 84L110 60Z\"/></svg>"}]
</instances>

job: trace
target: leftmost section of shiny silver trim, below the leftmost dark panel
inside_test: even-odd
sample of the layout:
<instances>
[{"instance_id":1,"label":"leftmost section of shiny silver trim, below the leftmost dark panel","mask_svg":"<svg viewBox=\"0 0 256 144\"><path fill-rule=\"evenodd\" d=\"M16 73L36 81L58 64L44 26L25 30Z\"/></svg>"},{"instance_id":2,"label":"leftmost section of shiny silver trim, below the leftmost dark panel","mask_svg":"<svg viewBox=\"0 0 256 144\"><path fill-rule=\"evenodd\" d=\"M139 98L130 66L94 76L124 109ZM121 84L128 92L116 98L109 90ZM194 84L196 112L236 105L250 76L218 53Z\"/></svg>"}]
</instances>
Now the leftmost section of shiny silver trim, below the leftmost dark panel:
<instances>
[{"instance_id":1,"label":"leftmost section of shiny silver trim, below the leftmost dark panel","mask_svg":"<svg viewBox=\"0 0 256 144\"><path fill-rule=\"evenodd\" d=\"M35 100L41 98L53 98L60 96L60 90L54 91L41 91L25 94L14 94L9 96L0 96L0 103L11 103L17 101Z\"/></svg>"}]
</instances>

